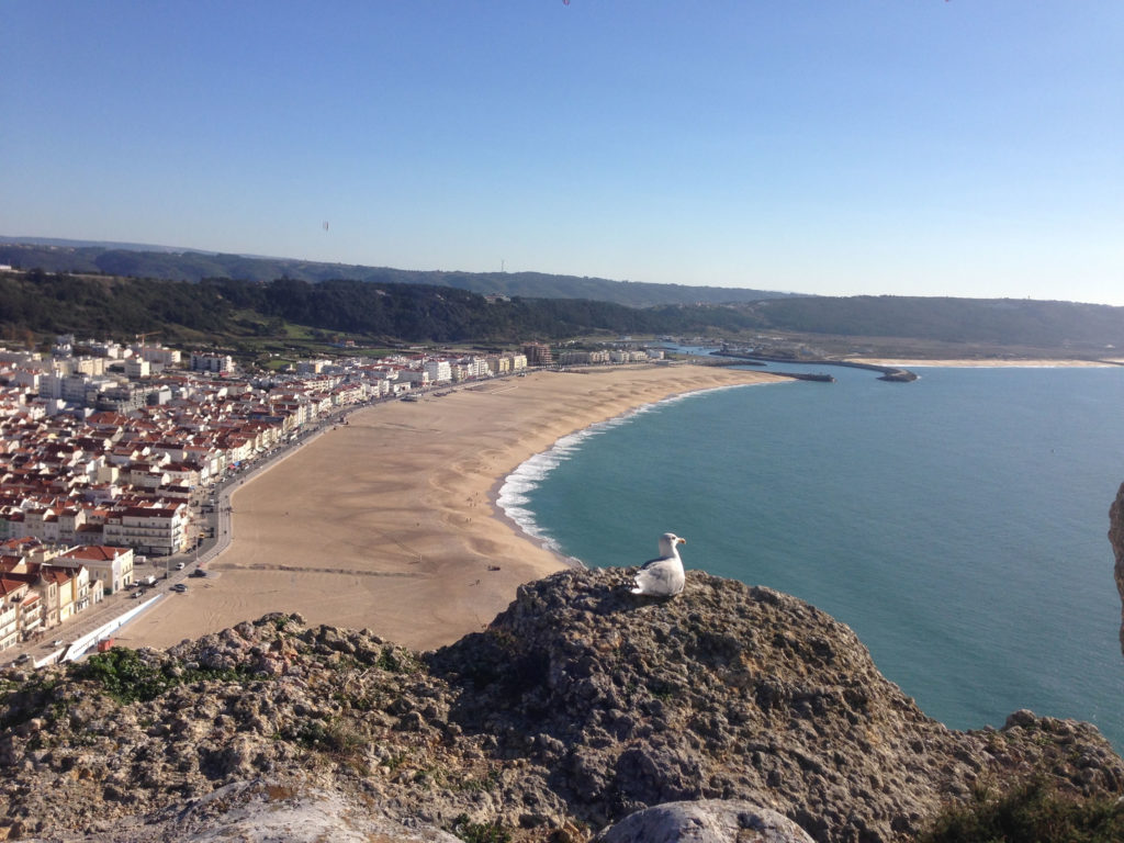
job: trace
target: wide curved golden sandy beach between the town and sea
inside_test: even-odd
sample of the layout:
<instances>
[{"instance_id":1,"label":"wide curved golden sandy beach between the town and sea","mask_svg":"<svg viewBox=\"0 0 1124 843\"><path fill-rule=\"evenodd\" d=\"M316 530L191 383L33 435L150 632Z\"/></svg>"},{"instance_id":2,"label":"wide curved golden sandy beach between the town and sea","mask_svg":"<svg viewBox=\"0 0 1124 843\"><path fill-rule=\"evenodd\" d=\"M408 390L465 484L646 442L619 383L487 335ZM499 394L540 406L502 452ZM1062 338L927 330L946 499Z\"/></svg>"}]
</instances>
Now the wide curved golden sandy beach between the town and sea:
<instances>
[{"instance_id":1,"label":"wide curved golden sandy beach between the town and sea","mask_svg":"<svg viewBox=\"0 0 1124 843\"><path fill-rule=\"evenodd\" d=\"M353 413L247 480L233 497L234 543L210 575L117 638L165 647L299 611L417 650L452 643L487 625L519 584L565 564L495 506L517 465L641 405L771 380L699 365L534 372Z\"/></svg>"}]
</instances>

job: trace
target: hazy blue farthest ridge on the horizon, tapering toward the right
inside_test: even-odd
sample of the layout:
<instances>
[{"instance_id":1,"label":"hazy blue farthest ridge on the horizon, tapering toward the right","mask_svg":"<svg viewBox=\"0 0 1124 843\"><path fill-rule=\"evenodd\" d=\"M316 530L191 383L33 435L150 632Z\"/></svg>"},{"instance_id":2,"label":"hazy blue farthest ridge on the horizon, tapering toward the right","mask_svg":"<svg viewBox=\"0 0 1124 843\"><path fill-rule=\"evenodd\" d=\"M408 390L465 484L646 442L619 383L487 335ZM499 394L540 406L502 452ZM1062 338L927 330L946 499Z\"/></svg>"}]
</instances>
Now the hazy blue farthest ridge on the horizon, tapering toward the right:
<instances>
[{"instance_id":1,"label":"hazy blue farthest ridge on the horizon, tapering toward the right","mask_svg":"<svg viewBox=\"0 0 1124 843\"><path fill-rule=\"evenodd\" d=\"M205 278L273 281L287 278L310 283L346 279L381 283L433 284L484 294L591 299L627 307L727 305L794 296L770 290L654 284L613 281L605 278L551 275L543 272L398 270L389 266L232 255L135 243L97 243L44 237L0 236L0 263L20 269L42 269L45 272L99 272L107 275L154 278L166 281L201 281Z\"/></svg>"}]
</instances>

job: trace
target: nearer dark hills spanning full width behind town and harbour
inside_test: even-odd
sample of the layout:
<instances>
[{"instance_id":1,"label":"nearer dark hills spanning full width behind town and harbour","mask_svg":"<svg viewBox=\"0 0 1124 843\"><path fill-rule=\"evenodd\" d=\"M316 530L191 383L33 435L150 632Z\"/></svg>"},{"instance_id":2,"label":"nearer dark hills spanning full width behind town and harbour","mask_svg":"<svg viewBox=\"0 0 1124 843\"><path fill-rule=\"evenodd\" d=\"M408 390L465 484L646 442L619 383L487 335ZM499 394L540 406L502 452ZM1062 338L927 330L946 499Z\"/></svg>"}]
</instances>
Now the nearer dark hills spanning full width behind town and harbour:
<instances>
[{"instance_id":1,"label":"nearer dark hills spanning full width behind town and harbour","mask_svg":"<svg viewBox=\"0 0 1124 843\"><path fill-rule=\"evenodd\" d=\"M448 287L346 279L196 283L0 273L0 336L8 339L56 333L132 339L160 332L164 342L234 344L252 355L268 341L270 351L283 350L292 326L324 339L346 335L373 344L709 335L805 357L1113 359L1124 348L1124 308L1062 301L807 297L635 308L590 299L497 300Z\"/></svg>"}]
</instances>

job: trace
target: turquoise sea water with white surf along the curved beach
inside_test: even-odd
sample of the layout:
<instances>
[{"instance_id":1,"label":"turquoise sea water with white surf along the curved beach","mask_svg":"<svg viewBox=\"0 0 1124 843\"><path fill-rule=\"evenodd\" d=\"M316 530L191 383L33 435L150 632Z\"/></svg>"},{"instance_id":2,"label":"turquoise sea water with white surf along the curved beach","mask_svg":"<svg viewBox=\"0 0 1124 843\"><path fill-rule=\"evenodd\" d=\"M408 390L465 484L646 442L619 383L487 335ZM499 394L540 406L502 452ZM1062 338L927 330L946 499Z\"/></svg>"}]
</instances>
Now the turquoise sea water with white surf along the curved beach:
<instances>
[{"instance_id":1,"label":"turquoise sea water with white surf along the curved beach","mask_svg":"<svg viewBox=\"0 0 1124 843\"><path fill-rule=\"evenodd\" d=\"M590 566L686 536L688 569L828 611L954 728L1030 708L1124 750L1106 538L1124 369L817 371L839 381L695 393L569 437L501 504Z\"/></svg>"}]
</instances>

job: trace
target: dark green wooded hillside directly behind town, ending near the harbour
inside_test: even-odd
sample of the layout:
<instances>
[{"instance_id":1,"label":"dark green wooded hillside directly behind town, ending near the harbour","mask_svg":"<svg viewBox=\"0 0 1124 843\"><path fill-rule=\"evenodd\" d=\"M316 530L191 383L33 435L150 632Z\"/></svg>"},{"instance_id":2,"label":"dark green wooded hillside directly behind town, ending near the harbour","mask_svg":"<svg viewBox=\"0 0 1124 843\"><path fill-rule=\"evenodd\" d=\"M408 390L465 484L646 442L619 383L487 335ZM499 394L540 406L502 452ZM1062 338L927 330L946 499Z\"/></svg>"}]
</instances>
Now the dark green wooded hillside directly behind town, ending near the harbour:
<instances>
[{"instance_id":1,"label":"dark green wooded hillside directly behind town, ending near the harbour","mask_svg":"<svg viewBox=\"0 0 1124 843\"><path fill-rule=\"evenodd\" d=\"M641 310L582 299L489 301L466 290L426 284L0 274L0 332L11 338L28 330L120 338L158 330L165 342L283 339L288 325L299 325L377 342L519 342L701 330L710 321L705 308Z\"/></svg>"}]
</instances>

